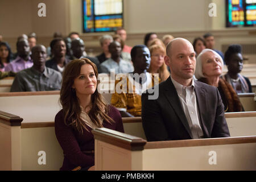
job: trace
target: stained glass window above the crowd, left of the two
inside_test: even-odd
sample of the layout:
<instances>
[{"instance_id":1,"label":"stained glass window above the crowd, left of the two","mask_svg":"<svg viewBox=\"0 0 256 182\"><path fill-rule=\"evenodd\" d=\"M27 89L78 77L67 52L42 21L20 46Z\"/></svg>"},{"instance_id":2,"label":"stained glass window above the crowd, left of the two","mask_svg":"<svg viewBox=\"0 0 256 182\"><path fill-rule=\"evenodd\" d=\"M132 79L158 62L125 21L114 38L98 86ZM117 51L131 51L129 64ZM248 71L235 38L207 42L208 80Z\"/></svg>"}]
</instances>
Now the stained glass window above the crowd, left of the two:
<instances>
[{"instance_id":1,"label":"stained glass window above the crowd, left of the two","mask_svg":"<svg viewBox=\"0 0 256 182\"><path fill-rule=\"evenodd\" d=\"M123 26L123 0L83 0L84 32L115 31Z\"/></svg>"}]
</instances>

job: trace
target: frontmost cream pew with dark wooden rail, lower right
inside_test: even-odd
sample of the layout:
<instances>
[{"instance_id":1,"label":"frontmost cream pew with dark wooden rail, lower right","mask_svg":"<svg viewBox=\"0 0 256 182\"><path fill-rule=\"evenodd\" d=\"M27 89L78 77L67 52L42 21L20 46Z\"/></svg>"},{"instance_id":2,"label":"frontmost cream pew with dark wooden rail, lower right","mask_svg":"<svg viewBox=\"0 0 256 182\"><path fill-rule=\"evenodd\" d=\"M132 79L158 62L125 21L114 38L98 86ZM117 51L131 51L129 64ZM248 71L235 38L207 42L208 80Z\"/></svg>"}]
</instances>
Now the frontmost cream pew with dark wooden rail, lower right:
<instances>
[{"instance_id":1,"label":"frontmost cream pew with dark wooden rail, lower right","mask_svg":"<svg viewBox=\"0 0 256 182\"><path fill-rule=\"evenodd\" d=\"M256 136L147 142L105 128L92 133L96 170L256 170Z\"/></svg>"}]
</instances>

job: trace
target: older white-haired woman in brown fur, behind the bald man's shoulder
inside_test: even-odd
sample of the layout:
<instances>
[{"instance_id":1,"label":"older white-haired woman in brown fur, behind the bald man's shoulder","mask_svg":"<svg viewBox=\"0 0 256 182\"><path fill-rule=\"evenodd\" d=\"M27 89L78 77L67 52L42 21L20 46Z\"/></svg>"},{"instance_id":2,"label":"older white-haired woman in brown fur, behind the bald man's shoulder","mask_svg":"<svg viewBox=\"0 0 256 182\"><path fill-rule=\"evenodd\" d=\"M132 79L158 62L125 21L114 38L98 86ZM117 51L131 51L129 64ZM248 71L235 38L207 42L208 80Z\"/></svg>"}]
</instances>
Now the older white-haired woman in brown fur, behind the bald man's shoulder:
<instances>
[{"instance_id":1,"label":"older white-haired woman in brown fur, behind the bald man's shoulder","mask_svg":"<svg viewBox=\"0 0 256 182\"><path fill-rule=\"evenodd\" d=\"M216 86L220 92L225 112L243 111L236 91L228 82L220 78L224 62L212 49L204 49L196 58L195 77L206 84Z\"/></svg>"}]
</instances>

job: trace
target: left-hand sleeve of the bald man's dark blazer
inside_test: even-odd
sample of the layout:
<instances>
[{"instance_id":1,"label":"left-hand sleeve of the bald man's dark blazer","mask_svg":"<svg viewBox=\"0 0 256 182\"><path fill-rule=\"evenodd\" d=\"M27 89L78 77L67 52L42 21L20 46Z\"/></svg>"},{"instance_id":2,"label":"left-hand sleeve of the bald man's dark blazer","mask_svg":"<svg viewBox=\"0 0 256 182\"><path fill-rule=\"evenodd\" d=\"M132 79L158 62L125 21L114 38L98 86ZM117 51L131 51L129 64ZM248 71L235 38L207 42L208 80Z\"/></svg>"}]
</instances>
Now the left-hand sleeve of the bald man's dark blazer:
<instances>
[{"instance_id":1,"label":"left-hand sleeve of the bald man's dark blazer","mask_svg":"<svg viewBox=\"0 0 256 182\"><path fill-rule=\"evenodd\" d=\"M143 93L141 98L142 125L147 140L149 142L170 140L168 139L168 133L157 100L148 100L147 93Z\"/></svg>"}]
</instances>

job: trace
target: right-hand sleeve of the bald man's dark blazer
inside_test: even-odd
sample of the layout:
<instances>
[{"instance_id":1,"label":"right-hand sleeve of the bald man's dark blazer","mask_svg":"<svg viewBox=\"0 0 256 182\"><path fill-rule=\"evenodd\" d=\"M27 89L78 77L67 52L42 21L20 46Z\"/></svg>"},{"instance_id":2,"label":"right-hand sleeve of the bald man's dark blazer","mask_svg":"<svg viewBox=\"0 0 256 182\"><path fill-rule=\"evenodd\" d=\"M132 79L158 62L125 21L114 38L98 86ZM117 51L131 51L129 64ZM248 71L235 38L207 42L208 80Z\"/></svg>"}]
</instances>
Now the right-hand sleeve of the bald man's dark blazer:
<instances>
[{"instance_id":1,"label":"right-hand sleeve of the bald man's dark blazer","mask_svg":"<svg viewBox=\"0 0 256 182\"><path fill-rule=\"evenodd\" d=\"M220 93L216 88L217 92L217 110L215 115L215 121L213 124L212 138L218 137L230 137L228 124L225 119L224 105L221 100Z\"/></svg>"}]
</instances>

